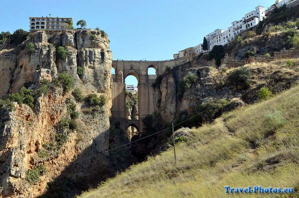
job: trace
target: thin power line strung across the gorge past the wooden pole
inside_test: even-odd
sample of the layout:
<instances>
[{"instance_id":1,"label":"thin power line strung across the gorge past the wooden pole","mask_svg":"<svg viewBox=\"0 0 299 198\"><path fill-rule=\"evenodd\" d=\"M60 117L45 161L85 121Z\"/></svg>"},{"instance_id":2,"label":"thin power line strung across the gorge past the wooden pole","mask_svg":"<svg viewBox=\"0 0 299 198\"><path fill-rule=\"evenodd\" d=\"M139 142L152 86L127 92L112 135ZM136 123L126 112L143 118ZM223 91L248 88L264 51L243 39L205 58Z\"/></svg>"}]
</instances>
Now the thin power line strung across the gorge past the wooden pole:
<instances>
[{"instance_id":1,"label":"thin power line strung across the gorge past the wooden pole","mask_svg":"<svg viewBox=\"0 0 299 198\"><path fill-rule=\"evenodd\" d=\"M273 78L274 76L276 76L277 74L279 74L279 73L276 73L275 75L273 75L272 78ZM264 75L264 76L266 76L266 75ZM277 85L277 86L278 86L278 85ZM276 88L277 86L275 86L275 88ZM244 92L246 92L246 91L248 91L248 90L250 90L250 89L251 89L251 88L248 88L248 89L246 89L246 90L243 90L242 92L233 95L233 97L235 97L235 96L237 96L237 95L240 95L240 94L242 94L242 93L244 93ZM193 116L189 117L188 119L185 119L185 120L179 122L178 124L175 124L174 126L180 125L180 124L182 124L182 123L188 121L189 119L192 119L192 118L194 118L194 117L196 117L196 116L198 116L198 115L200 115L200 114L202 114L202 113L204 113L204 112L206 112L206 111L208 111L208 110L210 110L210 109L212 109L212 108L213 108L213 107L207 108L206 110L201 111L201 112L199 112L198 114L193 115ZM174 127L174 126L173 126L173 127ZM119 148L121 148L121 147L127 146L127 145L129 145L129 144L134 143L134 142L137 142L137 141L140 141L140 140L142 140L142 139L148 138L148 137L150 137L150 136L156 135L156 134L158 134L158 133L164 132L164 131L169 130L169 129L171 129L171 128L172 128L172 127L163 129L163 130L161 130L161 131L152 133L152 134L150 134L150 135L147 135L147 136L145 136L145 137L139 138L139 139L134 140L134 141L132 141L132 142L129 142L129 143L127 143L127 144L123 144L123 145L121 145L121 146L118 146L118 147L115 147L115 148L113 148L113 149L110 149L110 150L107 150L107 151L98 153L98 154L96 154L96 155L93 155L93 156L84 158L84 159L82 159L82 160L78 160L78 161L76 161L76 162L72 162L72 163L70 163L69 165L71 165L71 164L76 164L76 163L79 163L79 162L82 162L82 161L85 161L85 160L94 158L94 157L99 156L99 155L102 155L102 154L104 154L104 153L108 153L109 151L113 151L113 150L119 149Z\"/></svg>"}]
</instances>

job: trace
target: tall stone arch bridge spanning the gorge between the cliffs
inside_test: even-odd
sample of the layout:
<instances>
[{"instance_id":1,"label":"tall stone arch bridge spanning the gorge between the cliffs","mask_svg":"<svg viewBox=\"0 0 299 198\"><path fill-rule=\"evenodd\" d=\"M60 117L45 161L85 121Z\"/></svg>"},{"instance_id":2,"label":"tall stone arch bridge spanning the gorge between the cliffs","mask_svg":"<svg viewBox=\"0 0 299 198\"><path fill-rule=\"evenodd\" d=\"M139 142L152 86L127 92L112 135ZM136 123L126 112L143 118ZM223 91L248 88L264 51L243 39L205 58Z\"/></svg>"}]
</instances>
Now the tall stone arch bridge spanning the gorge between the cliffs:
<instances>
[{"instance_id":1,"label":"tall stone arch bridge spanning the gorge between the cliffs","mask_svg":"<svg viewBox=\"0 0 299 198\"><path fill-rule=\"evenodd\" d=\"M155 79L164 73L167 67L173 68L187 62L188 59L180 58L169 61L113 61L112 67L115 74L112 75L112 118L120 124L124 131L129 126L135 126L139 133L143 132L143 118L154 112L154 92L151 86ZM156 75L149 75L148 68L154 68ZM138 80L138 118L130 120L126 118L126 94L125 79L133 75Z\"/></svg>"}]
</instances>

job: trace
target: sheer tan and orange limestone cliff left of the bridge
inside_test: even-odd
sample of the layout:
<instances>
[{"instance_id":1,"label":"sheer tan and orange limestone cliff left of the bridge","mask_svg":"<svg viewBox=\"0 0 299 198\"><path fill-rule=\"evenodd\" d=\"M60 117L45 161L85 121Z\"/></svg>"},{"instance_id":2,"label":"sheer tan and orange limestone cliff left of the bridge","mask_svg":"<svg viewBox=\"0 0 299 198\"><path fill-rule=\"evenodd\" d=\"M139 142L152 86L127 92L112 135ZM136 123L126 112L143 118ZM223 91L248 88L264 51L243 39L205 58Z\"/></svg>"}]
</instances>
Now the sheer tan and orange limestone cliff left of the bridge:
<instances>
[{"instance_id":1,"label":"sheer tan and orange limestone cliff left of the bridge","mask_svg":"<svg viewBox=\"0 0 299 198\"><path fill-rule=\"evenodd\" d=\"M28 42L34 51L24 48ZM62 45L68 52L65 60L56 59L54 46ZM36 99L33 109L16 104L11 112L1 112L0 119L0 197L37 197L46 192L47 183L63 176L78 183L84 178L85 186L95 175L103 178L109 172L109 160L102 155L94 159L71 164L103 152L109 147L109 116L111 101L112 53L108 38L99 31L65 31L46 34L36 32L15 49L0 52L0 98L19 92L24 85L34 89L43 80L52 81L57 74L66 72L74 80L83 96L104 96L106 104L100 113L83 113L84 104L76 103L79 112L78 129L69 134L60 153L47 159L38 156L43 145L55 139L55 128L67 114L65 100L75 99L71 93L63 94L55 89L48 96ZM83 68L81 78L77 67ZM24 178L26 171L43 164L47 174L40 181L29 184ZM106 174L106 175L105 175Z\"/></svg>"}]
</instances>

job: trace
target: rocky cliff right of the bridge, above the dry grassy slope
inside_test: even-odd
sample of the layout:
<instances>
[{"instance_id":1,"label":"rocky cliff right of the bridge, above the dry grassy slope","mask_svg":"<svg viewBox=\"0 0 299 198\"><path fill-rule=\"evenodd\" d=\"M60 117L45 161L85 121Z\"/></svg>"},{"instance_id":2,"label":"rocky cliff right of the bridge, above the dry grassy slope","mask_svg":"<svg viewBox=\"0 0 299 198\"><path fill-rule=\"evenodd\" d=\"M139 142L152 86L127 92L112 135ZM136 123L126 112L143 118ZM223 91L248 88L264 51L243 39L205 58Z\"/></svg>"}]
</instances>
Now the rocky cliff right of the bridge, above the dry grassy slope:
<instances>
[{"instance_id":1,"label":"rocky cliff right of the bridge, above the dry grassy slope","mask_svg":"<svg viewBox=\"0 0 299 198\"><path fill-rule=\"evenodd\" d=\"M287 64L287 60L277 60L271 63L252 63L240 68L217 69L214 66L202 66L201 58L199 56L197 60L166 71L158 77L154 87L154 105L164 120L183 121L211 108L184 126L212 121L222 112L245 103L257 102L262 87L276 94L296 85L299 79L296 61L292 67ZM243 74L243 71L247 74ZM243 82L245 75L248 75L248 85L242 85L246 84Z\"/></svg>"}]
</instances>

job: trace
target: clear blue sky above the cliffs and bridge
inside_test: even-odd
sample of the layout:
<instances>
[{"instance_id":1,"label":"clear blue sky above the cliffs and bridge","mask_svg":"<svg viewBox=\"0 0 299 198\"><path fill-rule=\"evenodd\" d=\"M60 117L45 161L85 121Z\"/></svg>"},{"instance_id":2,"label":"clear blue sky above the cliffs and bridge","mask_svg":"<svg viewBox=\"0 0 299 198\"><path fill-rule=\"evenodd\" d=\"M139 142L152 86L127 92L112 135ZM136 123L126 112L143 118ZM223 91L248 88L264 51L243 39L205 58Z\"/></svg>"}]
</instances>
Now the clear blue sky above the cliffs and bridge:
<instances>
[{"instance_id":1,"label":"clear blue sky above the cliffs and bridge","mask_svg":"<svg viewBox=\"0 0 299 198\"><path fill-rule=\"evenodd\" d=\"M29 16L84 19L108 33L113 60L167 60L275 0L1 0L0 31L29 31ZM12 6L13 5L13 6ZM7 9L6 9L6 8Z\"/></svg>"}]
</instances>

